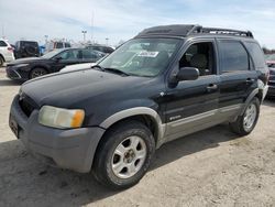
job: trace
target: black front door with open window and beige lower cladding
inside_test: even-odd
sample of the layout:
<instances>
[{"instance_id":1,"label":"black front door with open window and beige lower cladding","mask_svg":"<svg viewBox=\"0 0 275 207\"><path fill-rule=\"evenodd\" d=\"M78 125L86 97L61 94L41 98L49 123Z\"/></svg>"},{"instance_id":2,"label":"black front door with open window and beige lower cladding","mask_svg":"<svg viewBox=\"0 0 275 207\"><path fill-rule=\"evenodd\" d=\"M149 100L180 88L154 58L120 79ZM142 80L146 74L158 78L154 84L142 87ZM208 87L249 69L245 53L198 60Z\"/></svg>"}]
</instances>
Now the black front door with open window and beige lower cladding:
<instances>
[{"instance_id":1,"label":"black front door with open window and beige lower cladding","mask_svg":"<svg viewBox=\"0 0 275 207\"><path fill-rule=\"evenodd\" d=\"M183 80L168 87L166 96L166 141L217 123L220 78L217 75L215 40L190 43L177 63L200 72L196 80ZM174 73L174 72L172 72Z\"/></svg>"}]
</instances>

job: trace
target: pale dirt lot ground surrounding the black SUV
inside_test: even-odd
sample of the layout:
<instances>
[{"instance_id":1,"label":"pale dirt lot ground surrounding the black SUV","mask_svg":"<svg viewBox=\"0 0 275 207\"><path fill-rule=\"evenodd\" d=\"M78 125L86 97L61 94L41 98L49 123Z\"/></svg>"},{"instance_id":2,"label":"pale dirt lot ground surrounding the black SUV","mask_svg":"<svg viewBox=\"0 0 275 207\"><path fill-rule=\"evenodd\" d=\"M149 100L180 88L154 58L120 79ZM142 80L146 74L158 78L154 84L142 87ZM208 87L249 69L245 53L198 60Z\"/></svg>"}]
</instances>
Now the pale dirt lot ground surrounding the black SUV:
<instances>
[{"instance_id":1,"label":"pale dirt lot ground surrounding the black SUV","mask_svg":"<svg viewBox=\"0 0 275 207\"><path fill-rule=\"evenodd\" d=\"M275 206L275 101L251 135L218 126L165 144L140 184L111 192L32 159L8 127L19 87L0 68L0 206Z\"/></svg>"}]
</instances>

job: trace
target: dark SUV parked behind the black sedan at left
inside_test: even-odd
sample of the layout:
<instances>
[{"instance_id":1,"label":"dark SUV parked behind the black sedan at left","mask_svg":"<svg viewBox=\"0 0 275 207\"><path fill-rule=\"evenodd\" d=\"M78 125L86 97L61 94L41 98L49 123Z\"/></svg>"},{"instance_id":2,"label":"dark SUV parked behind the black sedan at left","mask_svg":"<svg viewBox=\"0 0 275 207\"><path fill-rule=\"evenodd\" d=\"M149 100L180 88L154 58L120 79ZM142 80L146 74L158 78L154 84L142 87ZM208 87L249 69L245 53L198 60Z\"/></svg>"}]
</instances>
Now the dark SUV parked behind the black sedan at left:
<instances>
[{"instance_id":1,"label":"dark SUV parked behind the black sedan at left","mask_svg":"<svg viewBox=\"0 0 275 207\"><path fill-rule=\"evenodd\" d=\"M15 43L14 55L16 59L23 57L38 57L38 43L34 41L18 41Z\"/></svg>"}]
</instances>

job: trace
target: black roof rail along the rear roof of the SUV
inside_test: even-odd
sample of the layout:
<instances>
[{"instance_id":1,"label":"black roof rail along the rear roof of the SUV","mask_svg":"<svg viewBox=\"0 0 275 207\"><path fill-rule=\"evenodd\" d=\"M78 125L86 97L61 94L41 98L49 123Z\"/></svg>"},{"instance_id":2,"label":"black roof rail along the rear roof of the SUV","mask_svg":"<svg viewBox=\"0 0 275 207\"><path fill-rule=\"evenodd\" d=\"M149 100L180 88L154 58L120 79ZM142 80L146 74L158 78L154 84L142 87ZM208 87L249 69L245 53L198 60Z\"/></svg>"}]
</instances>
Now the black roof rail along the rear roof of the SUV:
<instances>
[{"instance_id":1,"label":"black roof rail along the rear roof of the SUV","mask_svg":"<svg viewBox=\"0 0 275 207\"><path fill-rule=\"evenodd\" d=\"M230 29L201 28L200 33L237 35L237 36L246 36L253 39L253 34L251 31L240 31Z\"/></svg>"}]
</instances>

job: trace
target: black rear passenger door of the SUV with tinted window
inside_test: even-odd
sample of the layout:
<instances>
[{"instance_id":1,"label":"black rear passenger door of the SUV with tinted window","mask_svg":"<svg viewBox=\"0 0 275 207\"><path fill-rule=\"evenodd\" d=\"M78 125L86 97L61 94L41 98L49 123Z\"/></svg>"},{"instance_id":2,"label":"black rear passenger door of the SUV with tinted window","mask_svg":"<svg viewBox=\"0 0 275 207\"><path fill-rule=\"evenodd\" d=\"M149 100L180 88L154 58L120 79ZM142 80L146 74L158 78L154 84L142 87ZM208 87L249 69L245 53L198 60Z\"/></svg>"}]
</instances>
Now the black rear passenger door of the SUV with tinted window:
<instances>
[{"instance_id":1,"label":"black rear passenger door of the SUV with tinted window","mask_svg":"<svg viewBox=\"0 0 275 207\"><path fill-rule=\"evenodd\" d=\"M218 40L220 99L219 108L237 110L256 88L257 74L243 43Z\"/></svg>"}]
</instances>

